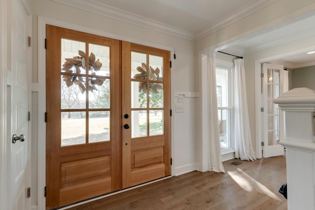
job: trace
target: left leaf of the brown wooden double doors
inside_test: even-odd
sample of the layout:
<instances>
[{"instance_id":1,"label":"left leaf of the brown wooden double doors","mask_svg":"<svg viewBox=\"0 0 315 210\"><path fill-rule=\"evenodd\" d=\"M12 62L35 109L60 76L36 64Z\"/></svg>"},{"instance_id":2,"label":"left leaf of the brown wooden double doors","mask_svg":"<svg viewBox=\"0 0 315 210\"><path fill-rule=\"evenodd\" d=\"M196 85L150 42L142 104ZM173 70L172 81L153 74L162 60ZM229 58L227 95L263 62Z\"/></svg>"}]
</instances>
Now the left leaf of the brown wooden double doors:
<instances>
[{"instance_id":1,"label":"left leaf of the brown wooden double doors","mask_svg":"<svg viewBox=\"0 0 315 210\"><path fill-rule=\"evenodd\" d=\"M121 44L118 40L48 25L46 38L46 208L52 209L121 189ZM63 68L65 61L73 70ZM100 92L105 81L108 91ZM71 92L68 99L72 104L77 100L78 106L63 105L62 94L76 85L80 92L74 95L76 98ZM97 97L108 104L100 101L95 105ZM71 117L78 113L77 120ZM74 135L72 139L62 136L64 119L70 120L65 131ZM93 120L100 123L94 125L99 128L96 131L91 130ZM72 122L82 125L74 129L76 124ZM63 138L67 144L63 144ZM78 138L79 143L75 142Z\"/></svg>"}]
</instances>

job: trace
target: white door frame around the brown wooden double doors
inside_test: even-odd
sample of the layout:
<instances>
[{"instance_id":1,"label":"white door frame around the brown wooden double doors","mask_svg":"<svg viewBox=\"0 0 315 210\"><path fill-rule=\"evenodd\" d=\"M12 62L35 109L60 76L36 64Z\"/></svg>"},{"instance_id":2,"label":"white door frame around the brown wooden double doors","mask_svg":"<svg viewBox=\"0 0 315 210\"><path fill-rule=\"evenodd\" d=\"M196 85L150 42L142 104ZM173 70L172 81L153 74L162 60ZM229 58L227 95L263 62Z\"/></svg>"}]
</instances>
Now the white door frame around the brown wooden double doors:
<instances>
[{"instance_id":1,"label":"white door frame around the brown wooden double doors","mask_svg":"<svg viewBox=\"0 0 315 210\"><path fill-rule=\"evenodd\" d=\"M114 38L122 41L127 41L135 44L154 47L162 50L168 50L171 55L174 54L174 48L164 45L155 44L135 38L130 38L124 35L115 34L103 30L92 29L76 24L71 24L64 21L59 21L51 18L38 16L38 83L32 83L32 91L38 92L38 191L37 191L37 209L46 208L46 199L44 197L44 187L46 185L46 124L43 123L46 112L46 50L45 50L45 38L46 38L46 24L57 27L62 27L71 30L78 30L82 32L92 33L99 36L105 36L108 38ZM174 70L175 61L171 56L172 68L171 68L171 109L174 110ZM175 116L171 118L171 157L174 157L174 121ZM172 176L174 176L175 164L172 164ZM100 197L101 198L101 197Z\"/></svg>"}]
</instances>

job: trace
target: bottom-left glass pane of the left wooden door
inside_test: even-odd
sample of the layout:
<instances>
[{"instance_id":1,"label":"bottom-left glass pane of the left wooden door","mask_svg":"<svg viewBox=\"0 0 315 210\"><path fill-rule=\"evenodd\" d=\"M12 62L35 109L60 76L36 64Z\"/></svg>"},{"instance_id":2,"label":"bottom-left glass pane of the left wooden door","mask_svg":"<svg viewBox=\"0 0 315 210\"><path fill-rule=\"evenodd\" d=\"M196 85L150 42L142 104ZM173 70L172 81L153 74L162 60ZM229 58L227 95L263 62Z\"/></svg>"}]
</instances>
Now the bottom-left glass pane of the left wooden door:
<instances>
[{"instance_id":1,"label":"bottom-left glass pane of the left wooden door","mask_svg":"<svg viewBox=\"0 0 315 210\"><path fill-rule=\"evenodd\" d=\"M85 144L85 112L61 113L61 146Z\"/></svg>"}]
</instances>

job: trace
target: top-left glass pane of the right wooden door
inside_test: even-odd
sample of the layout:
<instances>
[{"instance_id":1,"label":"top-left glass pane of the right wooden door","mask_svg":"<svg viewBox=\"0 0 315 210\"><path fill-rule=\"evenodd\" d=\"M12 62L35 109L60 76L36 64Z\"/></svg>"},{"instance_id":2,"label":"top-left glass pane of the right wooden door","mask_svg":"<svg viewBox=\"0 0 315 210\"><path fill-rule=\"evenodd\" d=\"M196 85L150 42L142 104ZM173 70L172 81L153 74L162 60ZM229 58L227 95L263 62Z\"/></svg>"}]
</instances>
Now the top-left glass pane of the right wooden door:
<instances>
[{"instance_id":1,"label":"top-left glass pane of the right wooden door","mask_svg":"<svg viewBox=\"0 0 315 210\"><path fill-rule=\"evenodd\" d=\"M147 79L147 54L131 52L131 78Z\"/></svg>"}]
</instances>

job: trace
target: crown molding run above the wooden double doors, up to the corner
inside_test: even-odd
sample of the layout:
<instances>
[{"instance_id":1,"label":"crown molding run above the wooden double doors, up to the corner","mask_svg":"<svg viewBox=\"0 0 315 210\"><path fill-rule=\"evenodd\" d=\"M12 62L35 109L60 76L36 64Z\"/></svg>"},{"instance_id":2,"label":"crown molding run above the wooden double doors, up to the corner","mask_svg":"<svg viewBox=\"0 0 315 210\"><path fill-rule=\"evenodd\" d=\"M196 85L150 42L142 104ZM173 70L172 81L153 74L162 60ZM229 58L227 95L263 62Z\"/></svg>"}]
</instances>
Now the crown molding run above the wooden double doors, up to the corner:
<instances>
[{"instance_id":1,"label":"crown molding run above the wooden double doors, up to the corner","mask_svg":"<svg viewBox=\"0 0 315 210\"><path fill-rule=\"evenodd\" d=\"M89 12L94 12L99 15L110 17L119 21L130 23L133 25L141 26L151 30L157 30L170 35L178 36L180 38L194 41L194 33L188 30L179 29L167 24L160 23L149 18L142 17L140 15L132 14L124 10L108 6L96 2L95 0L52 0L59 3L63 3L69 6L73 6L79 9L83 9Z\"/></svg>"}]
</instances>

